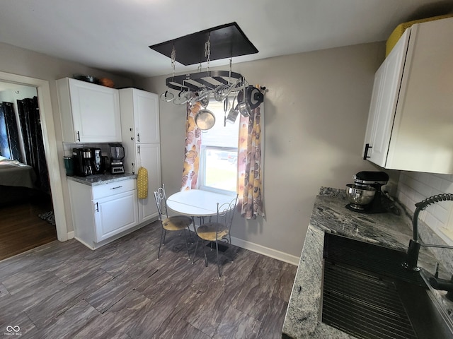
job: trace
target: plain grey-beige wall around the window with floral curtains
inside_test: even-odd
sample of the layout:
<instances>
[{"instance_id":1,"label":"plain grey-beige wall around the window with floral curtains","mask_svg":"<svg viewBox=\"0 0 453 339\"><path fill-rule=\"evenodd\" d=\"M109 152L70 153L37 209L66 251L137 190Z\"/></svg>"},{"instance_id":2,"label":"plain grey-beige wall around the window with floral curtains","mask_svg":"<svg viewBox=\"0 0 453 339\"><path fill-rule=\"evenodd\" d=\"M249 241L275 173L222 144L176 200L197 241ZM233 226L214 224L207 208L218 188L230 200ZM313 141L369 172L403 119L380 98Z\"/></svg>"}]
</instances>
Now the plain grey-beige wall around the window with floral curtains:
<instances>
[{"instance_id":1,"label":"plain grey-beige wall around the window with floral curtains","mask_svg":"<svg viewBox=\"0 0 453 339\"><path fill-rule=\"evenodd\" d=\"M380 42L233 64L248 82L268 88L266 218L236 218L236 243L297 263L319 187L344 188L361 170L381 170L361 153L374 73L383 59ZM161 94L166 77L144 79L139 87ZM180 189L185 106L159 105L162 181L171 194ZM390 174L397 182L398 172Z\"/></svg>"}]
</instances>

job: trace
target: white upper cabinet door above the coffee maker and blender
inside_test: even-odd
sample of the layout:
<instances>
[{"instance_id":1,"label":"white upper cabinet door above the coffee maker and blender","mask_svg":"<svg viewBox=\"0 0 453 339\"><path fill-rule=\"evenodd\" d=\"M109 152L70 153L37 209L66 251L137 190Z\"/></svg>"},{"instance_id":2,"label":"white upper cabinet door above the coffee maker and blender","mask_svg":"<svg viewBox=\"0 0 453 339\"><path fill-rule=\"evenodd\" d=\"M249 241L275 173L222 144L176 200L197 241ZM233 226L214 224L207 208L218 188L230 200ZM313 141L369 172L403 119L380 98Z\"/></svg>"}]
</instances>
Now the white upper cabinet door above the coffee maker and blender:
<instances>
[{"instance_id":1,"label":"white upper cabinet door above the coffee maker and blender","mask_svg":"<svg viewBox=\"0 0 453 339\"><path fill-rule=\"evenodd\" d=\"M75 79L68 80L76 142L121 141L118 91Z\"/></svg>"}]
</instances>

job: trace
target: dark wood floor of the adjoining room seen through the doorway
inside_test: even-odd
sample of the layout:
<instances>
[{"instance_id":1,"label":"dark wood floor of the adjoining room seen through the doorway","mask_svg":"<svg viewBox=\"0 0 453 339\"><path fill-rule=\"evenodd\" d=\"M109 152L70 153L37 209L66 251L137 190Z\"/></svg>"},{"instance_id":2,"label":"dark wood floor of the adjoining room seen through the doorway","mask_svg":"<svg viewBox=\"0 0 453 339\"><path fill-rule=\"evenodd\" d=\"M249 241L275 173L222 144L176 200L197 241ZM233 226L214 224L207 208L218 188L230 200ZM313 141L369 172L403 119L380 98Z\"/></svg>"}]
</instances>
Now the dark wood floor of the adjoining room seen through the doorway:
<instances>
[{"instance_id":1,"label":"dark wood floor of the adjoining room seen through the doorway","mask_svg":"<svg viewBox=\"0 0 453 339\"><path fill-rule=\"evenodd\" d=\"M0 260L56 240L55 226L38 217L50 210L45 196L0 206Z\"/></svg>"}]
</instances>

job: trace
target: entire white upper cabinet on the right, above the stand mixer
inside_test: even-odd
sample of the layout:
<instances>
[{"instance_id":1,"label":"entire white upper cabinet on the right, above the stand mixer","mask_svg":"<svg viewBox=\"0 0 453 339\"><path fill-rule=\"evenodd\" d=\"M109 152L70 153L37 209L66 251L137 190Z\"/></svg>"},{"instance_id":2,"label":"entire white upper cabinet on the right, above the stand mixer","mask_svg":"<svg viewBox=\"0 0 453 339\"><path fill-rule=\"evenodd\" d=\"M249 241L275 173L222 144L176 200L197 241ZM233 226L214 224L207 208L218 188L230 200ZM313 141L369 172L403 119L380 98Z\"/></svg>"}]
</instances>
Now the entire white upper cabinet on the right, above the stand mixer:
<instances>
[{"instance_id":1,"label":"entire white upper cabinet on the right, above the stand mixer","mask_svg":"<svg viewBox=\"0 0 453 339\"><path fill-rule=\"evenodd\" d=\"M453 18L404 32L379 67L364 159L386 169L453 174Z\"/></svg>"}]
</instances>

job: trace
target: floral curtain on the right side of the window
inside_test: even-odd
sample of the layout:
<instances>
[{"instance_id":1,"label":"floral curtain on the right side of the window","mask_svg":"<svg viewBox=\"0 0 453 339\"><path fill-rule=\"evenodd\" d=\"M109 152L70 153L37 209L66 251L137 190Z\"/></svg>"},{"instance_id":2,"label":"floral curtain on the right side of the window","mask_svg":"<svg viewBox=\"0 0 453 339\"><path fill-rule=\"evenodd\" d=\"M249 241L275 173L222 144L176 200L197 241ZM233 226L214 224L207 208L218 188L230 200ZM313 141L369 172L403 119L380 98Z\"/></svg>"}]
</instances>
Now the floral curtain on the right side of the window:
<instances>
[{"instance_id":1,"label":"floral curtain on the right side of the window","mask_svg":"<svg viewBox=\"0 0 453 339\"><path fill-rule=\"evenodd\" d=\"M257 107L250 117L241 115L239 127L239 208L246 219L256 219L257 215L264 217L260 119L260 107Z\"/></svg>"}]
</instances>

